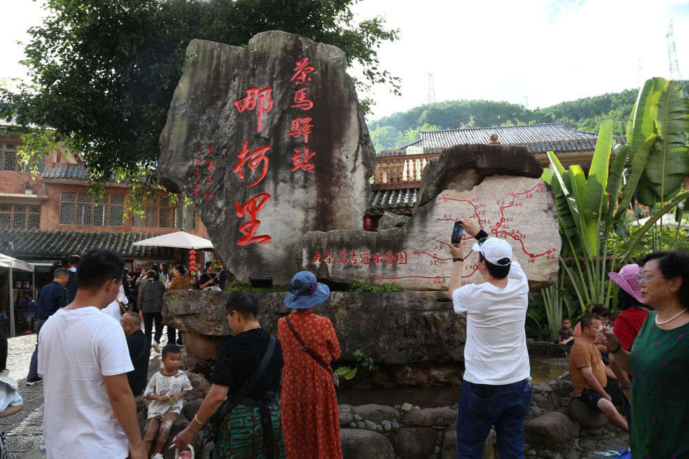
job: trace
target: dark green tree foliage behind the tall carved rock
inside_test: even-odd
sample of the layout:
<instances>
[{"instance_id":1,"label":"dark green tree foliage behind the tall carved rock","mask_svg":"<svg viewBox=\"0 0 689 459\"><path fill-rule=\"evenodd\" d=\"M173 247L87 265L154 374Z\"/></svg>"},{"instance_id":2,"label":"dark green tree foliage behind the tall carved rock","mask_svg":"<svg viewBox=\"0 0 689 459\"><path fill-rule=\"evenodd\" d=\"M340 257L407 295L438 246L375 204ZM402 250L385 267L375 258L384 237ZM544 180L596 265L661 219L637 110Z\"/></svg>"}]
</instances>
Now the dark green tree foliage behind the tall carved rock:
<instances>
[{"instance_id":1,"label":"dark green tree foliage behind the tall carved rock","mask_svg":"<svg viewBox=\"0 0 689 459\"><path fill-rule=\"evenodd\" d=\"M364 74L358 87L398 78L378 68L378 45L398 30L380 17L355 23L349 0L47 0L31 28L25 61L31 83L0 89L0 119L50 127L79 152L96 182L114 175L155 180L158 136L192 39L247 45L284 30L336 45ZM364 100L368 107L370 100Z\"/></svg>"}]
</instances>

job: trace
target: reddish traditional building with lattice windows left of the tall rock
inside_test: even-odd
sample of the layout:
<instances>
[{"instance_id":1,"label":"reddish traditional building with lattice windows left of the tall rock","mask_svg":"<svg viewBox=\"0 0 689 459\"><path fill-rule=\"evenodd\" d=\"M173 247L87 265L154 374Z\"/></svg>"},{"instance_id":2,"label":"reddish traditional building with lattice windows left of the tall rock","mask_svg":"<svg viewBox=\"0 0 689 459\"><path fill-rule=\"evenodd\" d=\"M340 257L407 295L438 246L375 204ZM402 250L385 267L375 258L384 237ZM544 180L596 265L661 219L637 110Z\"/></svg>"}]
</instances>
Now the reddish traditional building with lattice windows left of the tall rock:
<instances>
[{"instance_id":1,"label":"reddish traditional building with lattice windows left of the tall rock","mask_svg":"<svg viewBox=\"0 0 689 459\"><path fill-rule=\"evenodd\" d=\"M118 252L134 269L183 257L176 249L132 246L179 231L180 200L173 202L166 191L156 189L145 203L145 215L132 216L127 184L110 182L103 196L93 195L88 169L78 156L61 149L38 158L38 173L31 173L30 166L19 165L19 145L19 134L0 127L0 252L11 243L13 257L52 266L63 264L69 255L104 247ZM185 210L187 231L207 238L196 211Z\"/></svg>"}]
</instances>

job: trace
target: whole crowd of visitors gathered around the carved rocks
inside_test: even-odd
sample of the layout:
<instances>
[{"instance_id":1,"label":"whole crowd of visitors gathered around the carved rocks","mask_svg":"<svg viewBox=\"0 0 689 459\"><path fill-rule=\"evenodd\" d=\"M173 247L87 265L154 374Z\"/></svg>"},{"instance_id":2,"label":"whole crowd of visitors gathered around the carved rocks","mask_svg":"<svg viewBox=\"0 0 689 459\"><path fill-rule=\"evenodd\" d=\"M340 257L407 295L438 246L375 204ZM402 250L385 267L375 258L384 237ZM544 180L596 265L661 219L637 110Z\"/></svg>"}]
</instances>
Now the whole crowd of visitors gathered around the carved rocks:
<instances>
[{"instance_id":1,"label":"whole crowd of visitors gathered around the carved rocks","mask_svg":"<svg viewBox=\"0 0 689 459\"><path fill-rule=\"evenodd\" d=\"M449 296L455 312L466 314L457 458L480 458L491 428L501 458L523 458L532 395L524 331L528 280L510 244L489 237L473 220L460 223L476 239L472 250L484 282L462 286L464 250L449 244ZM72 261L69 269L55 270L37 298L40 334L27 378L31 385L43 375L48 458L161 459L192 389L180 370L174 329L161 351L163 368L150 380L147 373L151 349L160 352L163 293L192 288L185 267L170 273L158 266L129 281L123 260L109 250L91 250L75 266ZM199 287L219 288L212 265L205 268ZM621 310L614 328L610 310L593 305L575 327L566 319L558 330L557 343L569 349L575 397L630 432L633 458L689 457L689 255L651 253L610 279ZM341 458L331 367L340 345L331 321L314 312L329 296L312 273L296 273L284 300L291 312L279 319L274 337L258 321L256 295L229 295L225 310L235 336L218 349L209 392L172 438L174 446L185 449L209 423L216 458ZM2 336L3 368L6 356ZM21 410L16 389L4 370L0 417ZM134 403L140 394L150 401L143 436Z\"/></svg>"}]
</instances>

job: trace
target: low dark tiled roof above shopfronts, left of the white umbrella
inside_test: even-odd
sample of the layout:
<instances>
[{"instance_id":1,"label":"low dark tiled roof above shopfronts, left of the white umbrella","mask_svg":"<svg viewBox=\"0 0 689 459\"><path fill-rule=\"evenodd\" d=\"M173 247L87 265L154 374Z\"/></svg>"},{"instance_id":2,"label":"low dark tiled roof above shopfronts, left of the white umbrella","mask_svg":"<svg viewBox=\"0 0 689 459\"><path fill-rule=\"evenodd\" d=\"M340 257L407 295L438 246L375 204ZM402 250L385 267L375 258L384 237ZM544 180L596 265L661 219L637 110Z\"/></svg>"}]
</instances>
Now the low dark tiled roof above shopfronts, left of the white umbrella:
<instances>
[{"instance_id":1,"label":"low dark tiled roof above shopfronts, left of the white umbrella","mask_svg":"<svg viewBox=\"0 0 689 459\"><path fill-rule=\"evenodd\" d=\"M63 259L82 255L95 247L113 250L123 258L174 257L176 248L132 246L134 242L161 233L114 233L55 230L0 230L0 246L10 241L18 259Z\"/></svg>"}]
</instances>

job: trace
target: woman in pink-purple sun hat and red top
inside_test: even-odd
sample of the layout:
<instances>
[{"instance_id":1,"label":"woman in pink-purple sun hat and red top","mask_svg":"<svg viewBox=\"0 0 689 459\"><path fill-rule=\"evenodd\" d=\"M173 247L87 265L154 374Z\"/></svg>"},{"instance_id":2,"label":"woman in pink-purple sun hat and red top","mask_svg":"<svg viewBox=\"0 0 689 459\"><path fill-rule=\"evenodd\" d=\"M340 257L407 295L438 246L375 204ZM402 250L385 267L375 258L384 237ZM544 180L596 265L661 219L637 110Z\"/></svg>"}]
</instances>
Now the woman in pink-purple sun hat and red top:
<instances>
[{"instance_id":1,"label":"woman in pink-purple sun hat and red top","mask_svg":"<svg viewBox=\"0 0 689 459\"><path fill-rule=\"evenodd\" d=\"M639 273L641 273L641 266L637 264L626 264L619 269L619 273L608 273L610 279L613 279L617 284L617 309L621 310L615 319L615 335L619 339L622 349L627 352L632 348L641 326L644 325L646 316L653 309L644 305L644 299L641 298L641 286L637 280ZM610 368L617 376L619 388L624 393L622 409L624 409L627 425L631 429L632 415L629 404L631 375L626 374L619 367L615 362L615 356L610 359Z\"/></svg>"}]
</instances>

